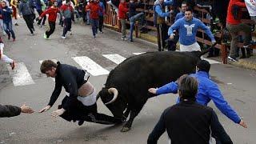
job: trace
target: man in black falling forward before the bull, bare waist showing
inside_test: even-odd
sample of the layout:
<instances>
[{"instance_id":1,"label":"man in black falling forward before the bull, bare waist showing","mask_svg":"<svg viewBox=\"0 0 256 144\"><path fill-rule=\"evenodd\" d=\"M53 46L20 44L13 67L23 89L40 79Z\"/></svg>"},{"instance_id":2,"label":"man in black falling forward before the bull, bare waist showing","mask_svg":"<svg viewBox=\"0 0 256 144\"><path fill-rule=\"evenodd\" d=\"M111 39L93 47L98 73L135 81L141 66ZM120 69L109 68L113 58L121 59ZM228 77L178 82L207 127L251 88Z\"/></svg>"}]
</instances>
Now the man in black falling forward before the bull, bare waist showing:
<instances>
[{"instance_id":1,"label":"man in black falling forward before the bull, bare waist showing","mask_svg":"<svg viewBox=\"0 0 256 144\"><path fill-rule=\"evenodd\" d=\"M39 113L49 110L54 105L64 86L66 97L58 106L58 110L51 113L51 116L60 116L69 122L78 121L79 126L84 121L106 125L120 122L114 117L97 112L97 94L94 86L88 82L89 75L85 70L51 60L43 61L40 69L47 77L55 78L55 88L50 102Z\"/></svg>"}]
</instances>

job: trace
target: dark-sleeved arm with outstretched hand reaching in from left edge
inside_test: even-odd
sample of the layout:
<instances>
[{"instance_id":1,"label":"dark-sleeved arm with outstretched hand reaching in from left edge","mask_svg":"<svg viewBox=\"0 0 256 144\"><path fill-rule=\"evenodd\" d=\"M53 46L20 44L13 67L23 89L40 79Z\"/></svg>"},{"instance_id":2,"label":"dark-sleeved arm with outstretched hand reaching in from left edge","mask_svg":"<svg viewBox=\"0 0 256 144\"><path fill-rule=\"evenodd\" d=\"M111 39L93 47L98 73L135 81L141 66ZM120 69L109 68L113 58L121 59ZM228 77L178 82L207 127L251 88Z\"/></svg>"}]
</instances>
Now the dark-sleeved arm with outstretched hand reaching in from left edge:
<instances>
[{"instance_id":1,"label":"dark-sleeved arm with outstretched hand reaching in from left edge","mask_svg":"<svg viewBox=\"0 0 256 144\"><path fill-rule=\"evenodd\" d=\"M21 113L32 114L34 113L34 110L32 110L30 106L26 106L25 104L21 107L11 105L0 105L0 118L14 117Z\"/></svg>"}]
</instances>

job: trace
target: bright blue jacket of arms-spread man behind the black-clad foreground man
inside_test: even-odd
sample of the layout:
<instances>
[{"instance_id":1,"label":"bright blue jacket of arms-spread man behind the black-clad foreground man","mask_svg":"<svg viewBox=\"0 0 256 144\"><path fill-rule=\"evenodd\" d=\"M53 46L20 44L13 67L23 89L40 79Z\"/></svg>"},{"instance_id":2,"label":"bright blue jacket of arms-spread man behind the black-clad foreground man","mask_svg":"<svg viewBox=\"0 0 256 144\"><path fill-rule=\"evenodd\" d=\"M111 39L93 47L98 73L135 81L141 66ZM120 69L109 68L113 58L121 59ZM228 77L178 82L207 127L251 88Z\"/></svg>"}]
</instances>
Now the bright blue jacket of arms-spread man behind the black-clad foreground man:
<instances>
[{"instance_id":1,"label":"bright blue jacket of arms-spread man behind the black-clad foreground man","mask_svg":"<svg viewBox=\"0 0 256 144\"><path fill-rule=\"evenodd\" d=\"M190 76L198 79L198 94L196 96L197 102L206 106L210 100L214 101L215 106L218 110L222 111L226 117L230 118L233 122L239 123L241 118L232 109L232 107L226 102L221 91L218 89L218 85L210 80L208 73L204 71L198 71L196 74L190 74ZM178 83L170 82L165 86L158 88L157 94L167 94L167 93L178 93ZM177 100L179 102L179 98Z\"/></svg>"}]
</instances>

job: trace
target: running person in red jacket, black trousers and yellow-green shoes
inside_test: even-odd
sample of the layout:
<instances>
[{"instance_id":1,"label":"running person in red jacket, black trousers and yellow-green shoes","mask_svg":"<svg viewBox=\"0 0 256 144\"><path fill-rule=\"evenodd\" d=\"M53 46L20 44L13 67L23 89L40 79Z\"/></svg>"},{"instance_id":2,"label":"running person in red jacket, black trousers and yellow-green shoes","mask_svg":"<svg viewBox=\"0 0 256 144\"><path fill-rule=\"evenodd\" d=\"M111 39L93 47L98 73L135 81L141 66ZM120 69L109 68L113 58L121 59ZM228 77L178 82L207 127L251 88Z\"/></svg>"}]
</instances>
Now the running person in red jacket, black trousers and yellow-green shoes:
<instances>
[{"instance_id":1,"label":"running person in red jacket, black trousers and yellow-green shoes","mask_svg":"<svg viewBox=\"0 0 256 144\"><path fill-rule=\"evenodd\" d=\"M50 34L54 33L57 13L59 12L57 4L58 4L57 2L54 2L54 5L50 6L50 8L45 12L43 12L39 17L39 19L42 19L46 14L49 14L48 22L49 22L50 30L46 30L46 33L43 35L43 38L48 39L50 37Z\"/></svg>"}]
</instances>

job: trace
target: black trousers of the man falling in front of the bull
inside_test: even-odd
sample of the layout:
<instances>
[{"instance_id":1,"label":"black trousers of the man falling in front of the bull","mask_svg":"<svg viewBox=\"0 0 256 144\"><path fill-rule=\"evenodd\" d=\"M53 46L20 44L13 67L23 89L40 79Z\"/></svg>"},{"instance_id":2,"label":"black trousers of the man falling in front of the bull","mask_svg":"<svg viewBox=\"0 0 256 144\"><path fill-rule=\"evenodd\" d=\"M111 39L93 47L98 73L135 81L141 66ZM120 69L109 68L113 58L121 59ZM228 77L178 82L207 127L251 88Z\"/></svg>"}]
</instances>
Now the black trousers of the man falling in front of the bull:
<instances>
[{"instance_id":1,"label":"black trousers of the man falling in front of the bull","mask_svg":"<svg viewBox=\"0 0 256 144\"><path fill-rule=\"evenodd\" d=\"M67 101L68 96L62 100L62 105ZM58 106L58 109L62 109L62 105ZM76 101L76 104L66 110L60 117L66 121L86 121L86 122L95 122L105 125L112 125L115 123L122 122L121 119L111 117L106 114L100 114L97 112L97 104L95 102L92 106L84 106L82 102Z\"/></svg>"}]
</instances>

